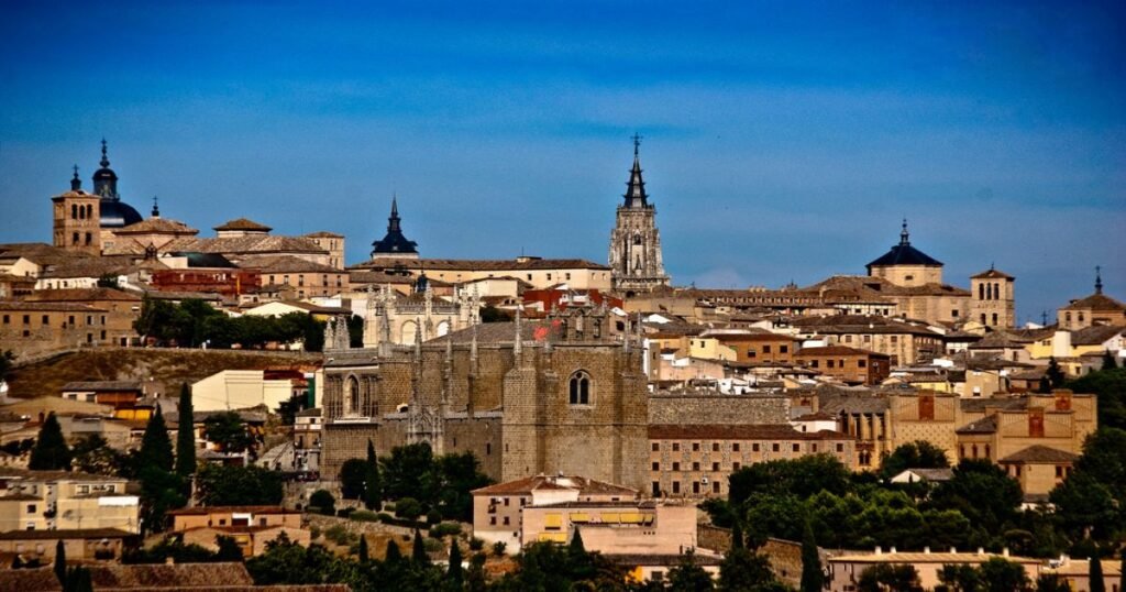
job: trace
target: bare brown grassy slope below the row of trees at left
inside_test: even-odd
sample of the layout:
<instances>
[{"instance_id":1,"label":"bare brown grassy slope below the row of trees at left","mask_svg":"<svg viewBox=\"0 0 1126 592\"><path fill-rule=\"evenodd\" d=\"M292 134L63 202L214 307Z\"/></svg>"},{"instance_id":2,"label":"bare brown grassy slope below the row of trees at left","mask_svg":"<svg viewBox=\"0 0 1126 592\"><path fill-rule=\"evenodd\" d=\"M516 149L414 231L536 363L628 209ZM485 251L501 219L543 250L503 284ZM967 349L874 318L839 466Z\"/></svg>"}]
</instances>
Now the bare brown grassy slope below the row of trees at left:
<instances>
[{"instance_id":1,"label":"bare brown grassy slope below the row of trees at left","mask_svg":"<svg viewBox=\"0 0 1126 592\"><path fill-rule=\"evenodd\" d=\"M179 392L181 382L195 382L222 370L313 370L321 354L238 352L230 350L106 348L65 354L15 369L9 395L29 398L59 395L78 380L149 380L157 392Z\"/></svg>"}]
</instances>

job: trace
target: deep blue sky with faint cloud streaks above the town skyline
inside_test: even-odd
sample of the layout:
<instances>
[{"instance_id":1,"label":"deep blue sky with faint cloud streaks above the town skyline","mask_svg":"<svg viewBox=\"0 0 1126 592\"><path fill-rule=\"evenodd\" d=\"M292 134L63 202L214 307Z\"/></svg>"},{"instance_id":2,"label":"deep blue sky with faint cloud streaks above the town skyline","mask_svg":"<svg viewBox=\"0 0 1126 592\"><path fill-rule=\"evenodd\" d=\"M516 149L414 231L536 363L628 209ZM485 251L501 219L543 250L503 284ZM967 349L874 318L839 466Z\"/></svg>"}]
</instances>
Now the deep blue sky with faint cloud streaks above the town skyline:
<instances>
[{"instance_id":1,"label":"deep blue sky with faint cloud streaks above the town skyline","mask_svg":"<svg viewBox=\"0 0 1126 592\"><path fill-rule=\"evenodd\" d=\"M1126 298L1126 3L23 2L0 19L0 241L109 141L125 201L212 236L392 193L426 257L606 262L642 165L677 284L806 285L899 240L995 263L1020 320ZM376 5L376 3L372 3Z\"/></svg>"}]
</instances>

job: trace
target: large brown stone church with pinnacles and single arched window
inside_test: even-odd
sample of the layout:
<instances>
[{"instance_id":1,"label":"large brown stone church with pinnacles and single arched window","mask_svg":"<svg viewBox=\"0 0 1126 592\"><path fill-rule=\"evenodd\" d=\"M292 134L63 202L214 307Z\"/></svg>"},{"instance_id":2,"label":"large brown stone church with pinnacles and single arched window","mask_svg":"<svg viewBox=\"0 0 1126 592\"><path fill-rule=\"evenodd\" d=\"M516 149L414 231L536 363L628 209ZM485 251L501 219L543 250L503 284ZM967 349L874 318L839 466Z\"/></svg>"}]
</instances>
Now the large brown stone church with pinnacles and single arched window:
<instances>
[{"instance_id":1,"label":"large brown stone church with pinnacles and single arched window","mask_svg":"<svg viewBox=\"0 0 1126 592\"><path fill-rule=\"evenodd\" d=\"M563 472L645 487L643 352L610 322L602 308L572 308L409 346L327 351L324 476L365 458L370 440L379 453L414 442L470 451L499 481Z\"/></svg>"}]
</instances>

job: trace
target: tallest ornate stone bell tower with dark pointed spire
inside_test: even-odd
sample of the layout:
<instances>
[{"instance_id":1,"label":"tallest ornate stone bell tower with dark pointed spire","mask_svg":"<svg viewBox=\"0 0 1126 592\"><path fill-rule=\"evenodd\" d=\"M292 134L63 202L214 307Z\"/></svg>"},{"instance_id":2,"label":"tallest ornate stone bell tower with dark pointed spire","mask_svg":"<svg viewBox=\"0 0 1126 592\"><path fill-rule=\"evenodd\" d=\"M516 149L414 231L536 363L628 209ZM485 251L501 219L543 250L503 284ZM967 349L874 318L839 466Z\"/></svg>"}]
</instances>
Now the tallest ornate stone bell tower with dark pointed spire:
<instances>
[{"instance_id":1,"label":"tallest ornate stone bell tower with dark pointed spire","mask_svg":"<svg viewBox=\"0 0 1126 592\"><path fill-rule=\"evenodd\" d=\"M627 297L669 285L661 259L656 209L649 203L641 177L640 147L641 136L634 134L634 166L626 184L625 202L618 205L617 223L610 231L613 286Z\"/></svg>"}]
</instances>

